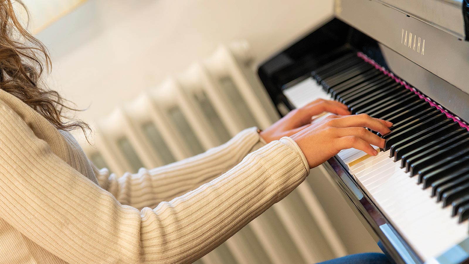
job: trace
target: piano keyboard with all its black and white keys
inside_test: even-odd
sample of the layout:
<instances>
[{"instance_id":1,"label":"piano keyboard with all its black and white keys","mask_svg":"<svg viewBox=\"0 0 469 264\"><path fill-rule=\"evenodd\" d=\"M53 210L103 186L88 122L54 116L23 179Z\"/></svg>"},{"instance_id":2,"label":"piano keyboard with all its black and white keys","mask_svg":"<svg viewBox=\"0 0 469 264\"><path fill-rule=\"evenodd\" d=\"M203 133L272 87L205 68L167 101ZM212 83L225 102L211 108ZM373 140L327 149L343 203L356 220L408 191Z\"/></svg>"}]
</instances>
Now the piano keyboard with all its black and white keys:
<instances>
[{"instance_id":1,"label":"piano keyboard with all its black and white keys","mask_svg":"<svg viewBox=\"0 0 469 264\"><path fill-rule=\"evenodd\" d=\"M328 62L283 93L296 107L317 98L393 123L376 156L338 154L356 182L423 261L468 237L469 132L457 119L355 53Z\"/></svg>"}]
</instances>

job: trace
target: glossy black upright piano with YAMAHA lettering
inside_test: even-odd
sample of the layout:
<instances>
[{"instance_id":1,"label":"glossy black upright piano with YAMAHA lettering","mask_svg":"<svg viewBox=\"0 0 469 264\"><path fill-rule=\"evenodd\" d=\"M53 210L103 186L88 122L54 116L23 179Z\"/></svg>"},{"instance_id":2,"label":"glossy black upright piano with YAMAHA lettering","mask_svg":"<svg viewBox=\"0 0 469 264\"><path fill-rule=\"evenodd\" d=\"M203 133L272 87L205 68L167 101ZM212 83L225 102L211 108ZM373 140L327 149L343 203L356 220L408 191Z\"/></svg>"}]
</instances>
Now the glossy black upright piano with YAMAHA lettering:
<instances>
[{"instance_id":1,"label":"glossy black upright piano with YAMAHA lettering","mask_svg":"<svg viewBox=\"0 0 469 264\"><path fill-rule=\"evenodd\" d=\"M469 263L468 2L336 0L258 68L282 115L325 98L393 123L324 166L399 264Z\"/></svg>"}]
</instances>

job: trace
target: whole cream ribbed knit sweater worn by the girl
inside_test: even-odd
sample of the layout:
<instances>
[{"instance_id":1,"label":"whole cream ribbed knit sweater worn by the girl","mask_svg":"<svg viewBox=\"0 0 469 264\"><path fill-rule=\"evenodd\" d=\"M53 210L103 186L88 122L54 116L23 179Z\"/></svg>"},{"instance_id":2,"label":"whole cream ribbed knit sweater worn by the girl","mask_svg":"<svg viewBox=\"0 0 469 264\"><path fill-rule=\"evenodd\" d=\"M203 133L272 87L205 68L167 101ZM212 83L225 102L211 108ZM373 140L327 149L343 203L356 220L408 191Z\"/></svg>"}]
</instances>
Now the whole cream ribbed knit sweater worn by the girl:
<instances>
[{"instance_id":1,"label":"whole cream ribbed knit sweater worn by the girl","mask_svg":"<svg viewBox=\"0 0 469 264\"><path fill-rule=\"evenodd\" d=\"M290 138L226 144L121 178L0 90L0 263L191 263L306 177Z\"/></svg>"}]
</instances>

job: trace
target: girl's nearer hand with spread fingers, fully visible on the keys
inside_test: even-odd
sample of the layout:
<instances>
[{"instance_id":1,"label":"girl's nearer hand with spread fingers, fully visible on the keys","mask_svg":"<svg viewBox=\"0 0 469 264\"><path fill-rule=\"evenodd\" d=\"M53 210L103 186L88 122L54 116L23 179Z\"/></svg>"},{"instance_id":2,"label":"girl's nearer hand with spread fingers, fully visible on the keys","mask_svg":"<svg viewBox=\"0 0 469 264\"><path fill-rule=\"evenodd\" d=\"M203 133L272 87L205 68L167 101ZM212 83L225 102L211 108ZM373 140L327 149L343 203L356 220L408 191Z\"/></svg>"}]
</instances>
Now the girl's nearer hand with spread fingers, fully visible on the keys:
<instances>
[{"instance_id":1,"label":"girl's nearer hand with spread fingers, fully visible on the keys","mask_svg":"<svg viewBox=\"0 0 469 264\"><path fill-rule=\"evenodd\" d=\"M366 114L353 116L327 116L318 124L311 125L290 136L303 151L310 168L324 163L342 149L356 148L367 154L377 155L371 147L384 147L385 140L368 131L378 131L382 135L390 132L393 124Z\"/></svg>"}]
</instances>

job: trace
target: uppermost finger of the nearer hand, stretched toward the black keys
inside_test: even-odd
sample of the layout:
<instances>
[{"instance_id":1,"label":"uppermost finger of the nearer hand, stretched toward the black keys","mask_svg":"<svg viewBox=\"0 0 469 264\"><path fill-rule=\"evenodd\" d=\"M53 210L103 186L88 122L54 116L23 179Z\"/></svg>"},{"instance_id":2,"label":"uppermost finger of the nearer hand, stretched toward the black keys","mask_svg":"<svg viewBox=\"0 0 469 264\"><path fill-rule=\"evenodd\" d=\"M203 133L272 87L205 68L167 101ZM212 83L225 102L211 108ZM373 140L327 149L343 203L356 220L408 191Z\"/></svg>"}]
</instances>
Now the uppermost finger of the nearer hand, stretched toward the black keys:
<instances>
[{"instance_id":1,"label":"uppermost finger of the nearer hand, stretched toward the black keys","mask_svg":"<svg viewBox=\"0 0 469 264\"><path fill-rule=\"evenodd\" d=\"M380 132L382 135L390 132L391 122L387 122L378 118L373 118L366 114L341 116L331 119L330 122L336 127L368 127L371 130Z\"/></svg>"}]
</instances>

